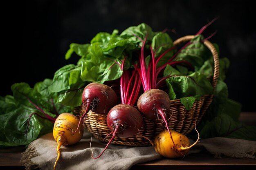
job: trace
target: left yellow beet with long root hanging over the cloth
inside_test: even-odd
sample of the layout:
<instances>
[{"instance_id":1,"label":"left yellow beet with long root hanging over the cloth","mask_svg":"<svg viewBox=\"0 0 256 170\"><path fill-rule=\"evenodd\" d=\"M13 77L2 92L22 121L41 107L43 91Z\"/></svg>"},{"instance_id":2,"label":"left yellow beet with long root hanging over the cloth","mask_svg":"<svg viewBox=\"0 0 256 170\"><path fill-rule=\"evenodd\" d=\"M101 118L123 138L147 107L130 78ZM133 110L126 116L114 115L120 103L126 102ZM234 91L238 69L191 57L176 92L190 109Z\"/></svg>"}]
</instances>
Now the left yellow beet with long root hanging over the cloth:
<instances>
[{"instance_id":1,"label":"left yellow beet with long root hanging over the cloth","mask_svg":"<svg viewBox=\"0 0 256 170\"><path fill-rule=\"evenodd\" d=\"M57 142L58 157L54 164L54 170L56 163L60 158L61 146L76 144L83 137L83 126L80 126L79 130L74 133L78 127L79 119L70 113L61 113L54 122L53 136Z\"/></svg>"}]
</instances>

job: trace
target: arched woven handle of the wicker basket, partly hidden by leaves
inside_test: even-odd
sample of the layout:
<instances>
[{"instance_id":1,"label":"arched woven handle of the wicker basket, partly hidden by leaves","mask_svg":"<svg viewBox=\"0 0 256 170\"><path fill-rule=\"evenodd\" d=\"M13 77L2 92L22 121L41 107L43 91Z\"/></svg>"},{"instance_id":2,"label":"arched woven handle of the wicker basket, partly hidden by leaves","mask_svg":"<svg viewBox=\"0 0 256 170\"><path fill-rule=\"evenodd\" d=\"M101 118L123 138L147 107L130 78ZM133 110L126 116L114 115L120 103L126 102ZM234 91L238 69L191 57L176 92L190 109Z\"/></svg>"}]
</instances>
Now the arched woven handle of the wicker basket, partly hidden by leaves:
<instances>
[{"instance_id":1,"label":"arched woven handle of the wicker basket, partly hidden by leaves","mask_svg":"<svg viewBox=\"0 0 256 170\"><path fill-rule=\"evenodd\" d=\"M173 42L173 44L176 46L178 44L188 42L188 41L192 40L193 38L195 38L195 35L186 35L182 38L175 40ZM209 42L208 40L204 40L204 45L207 46L207 48L211 51L211 53L213 55L214 72L213 72L213 81L211 84L213 86L213 89L215 89L217 82L218 82L218 77L219 77L219 68L220 68L219 56L218 56L218 52L217 52L216 48L213 46L213 44L211 42Z\"/></svg>"}]
</instances>

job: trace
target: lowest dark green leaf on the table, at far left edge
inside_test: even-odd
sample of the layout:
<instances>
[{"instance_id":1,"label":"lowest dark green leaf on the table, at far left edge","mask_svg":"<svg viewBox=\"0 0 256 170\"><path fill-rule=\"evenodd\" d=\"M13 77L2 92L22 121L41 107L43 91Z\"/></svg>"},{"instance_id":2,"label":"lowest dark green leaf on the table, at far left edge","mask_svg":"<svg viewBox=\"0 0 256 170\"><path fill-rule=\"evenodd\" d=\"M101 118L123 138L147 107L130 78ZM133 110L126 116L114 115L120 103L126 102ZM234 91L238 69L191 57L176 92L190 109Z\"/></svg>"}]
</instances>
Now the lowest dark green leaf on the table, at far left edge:
<instances>
[{"instance_id":1,"label":"lowest dark green leaf on the table, at far left edge","mask_svg":"<svg viewBox=\"0 0 256 170\"><path fill-rule=\"evenodd\" d=\"M1 115L0 129L3 133L0 135L0 146L27 145L37 139L42 128L47 129L47 133L50 132L53 124L48 120L42 124L41 118L36 115L31 116L27 130L28 117L31 113L36 112L38 110L34 108L20 105L15 110L5 114L4 119L2 119L3 117Z\"/></svg>"}]
</instances>

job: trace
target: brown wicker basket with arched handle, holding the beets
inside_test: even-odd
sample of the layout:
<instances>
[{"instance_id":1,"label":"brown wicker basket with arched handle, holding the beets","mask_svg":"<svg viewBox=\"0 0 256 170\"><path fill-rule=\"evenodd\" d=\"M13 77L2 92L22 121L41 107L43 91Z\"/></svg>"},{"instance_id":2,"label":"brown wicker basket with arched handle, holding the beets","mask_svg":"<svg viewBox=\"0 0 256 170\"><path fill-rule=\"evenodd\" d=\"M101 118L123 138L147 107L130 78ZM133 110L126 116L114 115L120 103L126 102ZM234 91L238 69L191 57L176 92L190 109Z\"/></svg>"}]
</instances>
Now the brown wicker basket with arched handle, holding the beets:
<instances>
[{"instance_id":1,"label":"brown wicker basket with arched handle, holding the beets","mask_svg":"<svg viewBox=\"0 0 256 170\"><path fill-rule=\"evenodd\" d=\"M193 39L195 35L187 35L176 40L174 45L178 45ZM215 89L218 76L219 76L219 59L218 53L208 40L204 41L204 45L211 51L214 61L214 73L212 86ZM185 107L180 103L180 99L171 100L171 108L168 114L166 114L166 119L170 129L187 135L191 130L194 129L195 124L198 124L204 115L205 111L211 104L213 95L202 96L200 100L196 100L190 110L186 110ZM81 109L81 108L80 108ZM81 115L81 110L76 110L77 114ZM88 112L85 121L85 128L92 133L92 135L103 141L103 139L110 133L106 123L106 115L98 115L96 113ZM144 117L144 125L139 130L141 135L153 139L159 132L164 130L165 125L162 119L150 120ZM147 139L141 137L137 133L136 135L128 138L115 137L112 144L126 145L126 146L150 146L151 144ZM106 137L103 142L108 142L111 135Z\"/></svg>"}]
</instances>

